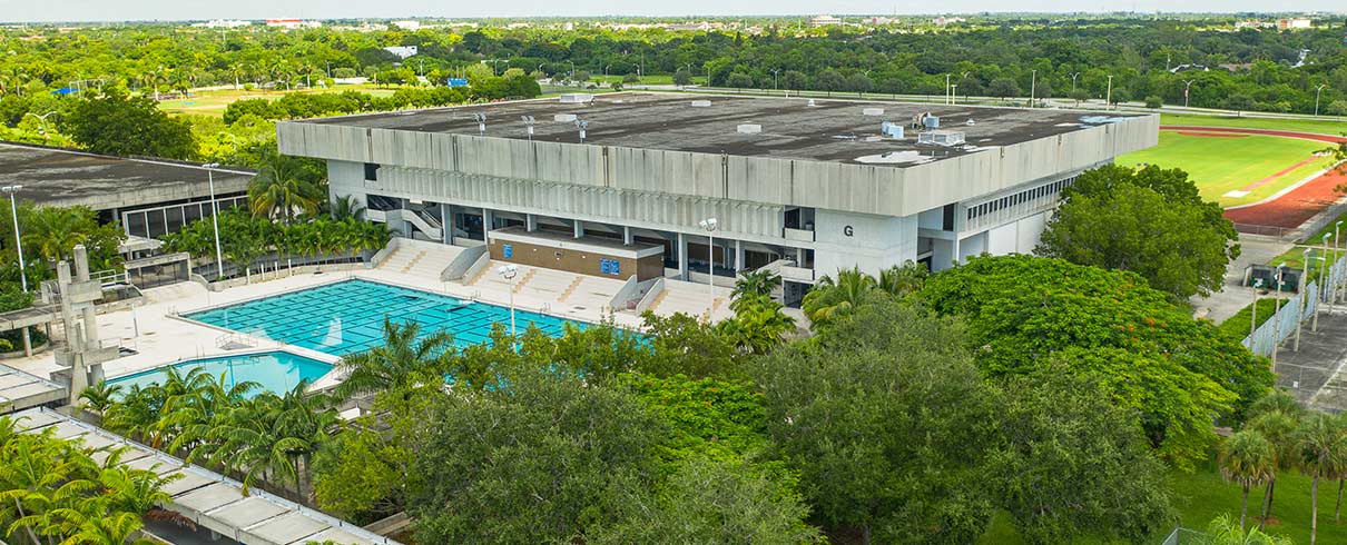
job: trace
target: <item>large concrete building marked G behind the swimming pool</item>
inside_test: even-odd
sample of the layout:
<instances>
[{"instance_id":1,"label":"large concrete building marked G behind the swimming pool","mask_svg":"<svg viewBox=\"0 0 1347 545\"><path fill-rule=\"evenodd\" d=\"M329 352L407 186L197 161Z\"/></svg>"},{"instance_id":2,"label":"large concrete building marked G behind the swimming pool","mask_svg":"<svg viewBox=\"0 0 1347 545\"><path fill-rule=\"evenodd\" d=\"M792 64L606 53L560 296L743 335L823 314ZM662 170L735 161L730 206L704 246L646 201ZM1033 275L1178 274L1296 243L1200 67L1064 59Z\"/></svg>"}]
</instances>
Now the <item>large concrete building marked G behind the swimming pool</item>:
<instances>
[{"instance_id":1,"label":"large concrete building marked G behind the swimming pool","mask_svg":"<svg viewBox=\"0 0 1347 545\"><path fill-rule=\"evenodd\" d=\"M842 268L1030 252L1061 188L1154 145L1158 117L620 93L277 133L282 152L329 161L334 199L405 237L621 279L647 280L622 264L652 254L655 275L706 281L710 261L722 284L770 265L789 301Z\"/></svg>"}]
</instances>

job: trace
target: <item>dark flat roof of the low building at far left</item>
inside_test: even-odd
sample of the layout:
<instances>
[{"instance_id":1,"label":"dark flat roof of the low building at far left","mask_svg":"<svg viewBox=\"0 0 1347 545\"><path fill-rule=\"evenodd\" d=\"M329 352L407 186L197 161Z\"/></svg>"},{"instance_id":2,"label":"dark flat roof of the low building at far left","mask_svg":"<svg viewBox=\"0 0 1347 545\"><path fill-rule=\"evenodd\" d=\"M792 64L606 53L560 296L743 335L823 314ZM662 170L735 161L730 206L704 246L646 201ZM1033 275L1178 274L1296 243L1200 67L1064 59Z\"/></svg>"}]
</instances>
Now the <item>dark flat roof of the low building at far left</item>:
<instances>
[{"instance_id":1,"label":"dark flat roof of the low building at far left","mask_svg":"<svg viewBox=\"0 0 1347 545\"><path fill-rule=\"evenodd\" d=\"M245 191L253 172L217 168L216 194ZM125 209L210 195L199 164L121 159L75 149L0 143L0 186L23 186L19 199L39 206Z\"/></svg>"}]
</instances>

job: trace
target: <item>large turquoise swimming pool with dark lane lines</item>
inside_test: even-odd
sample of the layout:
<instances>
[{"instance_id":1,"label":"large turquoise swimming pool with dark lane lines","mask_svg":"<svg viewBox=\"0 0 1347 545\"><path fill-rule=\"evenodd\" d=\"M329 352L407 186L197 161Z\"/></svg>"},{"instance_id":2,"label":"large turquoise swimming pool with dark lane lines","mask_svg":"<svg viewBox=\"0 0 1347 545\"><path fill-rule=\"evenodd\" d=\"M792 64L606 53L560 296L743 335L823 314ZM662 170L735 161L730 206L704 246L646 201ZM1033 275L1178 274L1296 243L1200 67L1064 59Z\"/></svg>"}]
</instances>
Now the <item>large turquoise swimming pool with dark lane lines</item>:
<instances>
[{"instance_id":1,"label":"large turquoise swimming pool with dark lane lines","mask_svg":"<svg viewBox=\"0 0 1347 545\"><path fill-rule=\"evenodd\" d=\"M333 355L346 355L384 342L384 318L416 322L420 335L447 330L458 346L489 342L492 324L509 327L509 308L466 301L445 295L380 284L343 280L272 297L185 315L216 327L233 330ZM568 320L537 312L516 311L520 332L529 324L560 336ZM579 322L572 322L581 324Z\"/></svg>"}]
</instances>

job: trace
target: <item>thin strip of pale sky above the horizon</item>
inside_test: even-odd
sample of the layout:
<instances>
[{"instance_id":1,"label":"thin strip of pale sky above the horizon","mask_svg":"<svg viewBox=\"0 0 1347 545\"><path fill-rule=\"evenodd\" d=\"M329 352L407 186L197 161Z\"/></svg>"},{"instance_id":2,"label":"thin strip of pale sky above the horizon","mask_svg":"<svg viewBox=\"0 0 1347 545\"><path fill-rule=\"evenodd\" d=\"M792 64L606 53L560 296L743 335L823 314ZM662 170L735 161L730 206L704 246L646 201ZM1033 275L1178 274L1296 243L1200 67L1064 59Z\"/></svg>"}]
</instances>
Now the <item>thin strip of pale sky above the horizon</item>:
<instances>
[{"instance_id":1,"label":"thin strip of pale sky above the horizon","mask_svg":"<svg viewBox=\"0 0 1347 545\"><path fill-rule=\"evenodd\" d=\"M599 15L946 13L979 11L1099 12L1344 11L1343 0L0 0L0 22L199 19L517 17Z\"/></svg>"}]
</instances>

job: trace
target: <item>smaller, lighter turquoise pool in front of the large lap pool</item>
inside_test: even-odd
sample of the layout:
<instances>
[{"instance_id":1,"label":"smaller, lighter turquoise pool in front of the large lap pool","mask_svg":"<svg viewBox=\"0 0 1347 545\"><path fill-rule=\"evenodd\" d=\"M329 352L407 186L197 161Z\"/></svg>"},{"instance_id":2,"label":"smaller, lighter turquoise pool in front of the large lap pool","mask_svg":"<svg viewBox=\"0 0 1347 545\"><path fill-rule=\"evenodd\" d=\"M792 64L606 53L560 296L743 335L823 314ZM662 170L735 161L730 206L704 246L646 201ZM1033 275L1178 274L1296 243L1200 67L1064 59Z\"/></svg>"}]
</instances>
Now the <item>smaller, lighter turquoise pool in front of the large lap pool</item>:
<instances>
[{"instance_id":1,"label":"smaller, lighter turquoise pool in front of the large lap pool","mask_svg":"<svg viewBox=\"0 0 1347 545\"><path fill-rule=\"evenodd\" d=\"M315 382L333 369L330 363L284 351L191 359L175 363L174 367L182 374L187 374L197 367L203 367L211 377L224 374L225 388L233 388L238 382L257 382L261 385L261 390L275 394L284 394L292 390L303 379ZM162 369L151 369L148 371L110 378L108 384L120 384L123 388L131 388L132 385L145 388L151 384L163 382L163 378L164 371ZM253 393L260 392L255 390Z\"/></svg>"}]
</instances>

